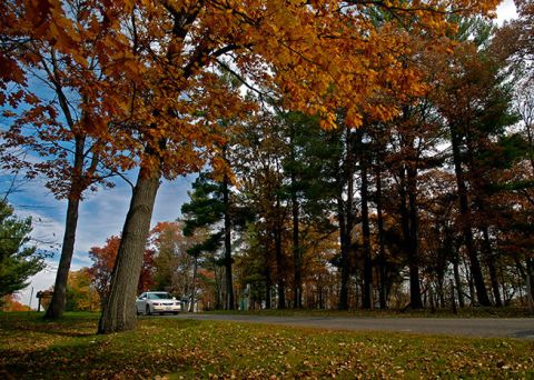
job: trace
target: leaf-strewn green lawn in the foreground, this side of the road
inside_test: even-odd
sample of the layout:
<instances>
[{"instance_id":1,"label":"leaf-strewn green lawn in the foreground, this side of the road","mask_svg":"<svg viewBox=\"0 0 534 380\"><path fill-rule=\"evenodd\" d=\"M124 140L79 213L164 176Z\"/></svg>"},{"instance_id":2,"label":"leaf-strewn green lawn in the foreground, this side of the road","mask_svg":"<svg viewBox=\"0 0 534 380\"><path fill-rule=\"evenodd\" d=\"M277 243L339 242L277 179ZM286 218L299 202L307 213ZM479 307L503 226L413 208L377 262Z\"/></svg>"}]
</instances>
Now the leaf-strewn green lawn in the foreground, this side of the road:
<instances>
[{"instance_id":1,"label":"leaf-strewn green lawn in the foreground, this side of the road","mask_svg":"<svg viewBox=\"0 0 534 380\"><path fill-rule=\"evenodd\" d=\"M140 318L97 336L98 314L0 313L2 379L534 378L534 342Z\"/></svg>"}]
</instances>

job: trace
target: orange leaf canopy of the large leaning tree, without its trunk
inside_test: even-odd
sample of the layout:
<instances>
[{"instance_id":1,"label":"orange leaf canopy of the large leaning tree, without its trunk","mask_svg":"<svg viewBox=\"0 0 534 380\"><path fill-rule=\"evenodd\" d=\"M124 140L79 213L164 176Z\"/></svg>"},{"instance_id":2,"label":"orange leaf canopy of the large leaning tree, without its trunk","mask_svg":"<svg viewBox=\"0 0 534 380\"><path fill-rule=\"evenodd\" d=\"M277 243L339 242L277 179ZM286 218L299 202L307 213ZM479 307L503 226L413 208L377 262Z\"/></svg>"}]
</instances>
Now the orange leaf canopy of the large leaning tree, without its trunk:
<instances>
[{"instance_id":1,"label":"orange leaf canopy of the large leaning tree, without its trunk","mask_svg":"<svg viewBox=\"0 0 534 380\"><path fill-rule=\"evenodd\" d=\"M41 54L58 51L51 77L79 96L83 114L76 128L101 140L106 162L128 168L145 160L171 178L210 156L220 121L254 112L241 83L222 84L220 76L280 89L285 107L319 114L325 129L336 128L340 109L354 128L364 114L387 120L397 111L388 106L393 97L425 91L414 53L417 34L443 34L443 11L488 13L496 2L118 0L78 9L61 0L26 0L2 6L14 16L2 32L34 39ZM40 64L38 58L0 56L2 83L22 84L24 69ZM0 103L23 99L8 99L0 89ZM50 128L47 136L58 131L41 127Z\"/></svg>"}]
</instances>

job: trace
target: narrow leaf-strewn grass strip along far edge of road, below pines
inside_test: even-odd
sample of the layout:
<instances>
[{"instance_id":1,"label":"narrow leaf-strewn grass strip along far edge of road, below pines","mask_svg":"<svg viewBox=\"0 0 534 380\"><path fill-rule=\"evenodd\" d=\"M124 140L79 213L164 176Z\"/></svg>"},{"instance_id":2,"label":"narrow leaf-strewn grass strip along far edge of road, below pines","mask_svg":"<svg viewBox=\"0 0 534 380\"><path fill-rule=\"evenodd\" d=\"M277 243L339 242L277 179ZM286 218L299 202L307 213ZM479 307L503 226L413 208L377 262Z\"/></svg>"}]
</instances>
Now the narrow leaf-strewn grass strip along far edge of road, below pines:
<instances>
[{"instance_id":1,"label":"narrow leaf-strewn grass strip along far edge of road, below pines","mask_svg":"<svg viewBox=\"0 0 534 380\"><path fill-rule=\"evenodd\" d=\"M375 309L375 310L318 310L318 309L268 309L268 310L210 310L210 314L245 314L269 317L370 317L370 318L534 318L528 308L506 307L467 307L458 308L456 313L451 309Z\"/></svg>"}]
</instances>

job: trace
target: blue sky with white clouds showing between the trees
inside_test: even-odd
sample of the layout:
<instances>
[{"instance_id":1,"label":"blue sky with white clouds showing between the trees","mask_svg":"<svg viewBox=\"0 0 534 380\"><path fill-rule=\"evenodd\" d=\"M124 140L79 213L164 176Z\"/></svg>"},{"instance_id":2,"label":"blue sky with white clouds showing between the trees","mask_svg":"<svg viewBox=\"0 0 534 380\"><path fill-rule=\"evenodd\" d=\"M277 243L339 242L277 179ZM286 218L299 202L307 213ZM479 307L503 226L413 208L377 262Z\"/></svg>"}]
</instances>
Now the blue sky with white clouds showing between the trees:
<instances>
[{"instance_id":1,"label":"blue sky with white clouds showing between the trees","mask_svg":"<svg viewBox=\"0 0 534 380\"><path fill-rule=\"evenodd\" d=\"M513 0L505 0L497 8L497 23L515 18ZM6 189L7 178L0 176L0 192ZM180 208L187 201L187 191L191 188L194 176L180 177L174 182L165 181L156 198L151 226L160 221L176 220ZM131 188L126 182L117 182L110 190L100 190L88 194L80 204L78 231L71 270L91 266L88 257L91 247L102 247L111 236L119 236L125 222L131 197ZM30 279L28 288L19 293L20 302L37 307L34 294L50 288L56 279L60 256L67 202L57 200L44 189L43 182L36 179L26 183L19 192L10 197L10 202L20 217L33 219L32 238L42 248L55 252L47 259L47 268ZM33 293L33 297L30 297Z\"/></svg>"}]
</instances>

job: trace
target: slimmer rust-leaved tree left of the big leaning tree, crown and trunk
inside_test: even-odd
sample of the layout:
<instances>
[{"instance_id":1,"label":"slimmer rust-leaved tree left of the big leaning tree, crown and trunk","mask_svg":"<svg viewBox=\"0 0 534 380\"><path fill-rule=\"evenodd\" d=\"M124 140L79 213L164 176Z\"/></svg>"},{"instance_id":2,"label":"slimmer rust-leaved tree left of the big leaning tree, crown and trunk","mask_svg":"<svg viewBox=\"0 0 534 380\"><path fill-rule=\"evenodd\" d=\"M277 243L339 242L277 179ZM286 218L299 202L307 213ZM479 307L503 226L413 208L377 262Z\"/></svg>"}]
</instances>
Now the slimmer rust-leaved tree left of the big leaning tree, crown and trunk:
<instances>
[{"instance_id":1,"label":"slimmer rust-leaved tree left of the big leaning tree, crown and trunk","mask_svg":"<svg viewBox=\"0 0 534 380\"><path fill-rule=\"evenodd\" d=\"M80 201L89 189L111 187L108 179L118 166L128 167L117 149L115 156L105 154L106 138L96 132L119 107L101 101L102 92L112 92L112 87L105 88L117 44L112 26L98 21L108 17L98 1L10 1L2 8L2 17L9 18L2 22L2 68L11 71L6 78L16 87L2 86L0 94L2 106L9 101L4 116L10 120L1 132L1 162L30 179L43 177L56 198L67 200L55 293L46 314L59 318ZM43 90L33 91L38 86Z\"/></svg>"}]
</instances>

